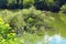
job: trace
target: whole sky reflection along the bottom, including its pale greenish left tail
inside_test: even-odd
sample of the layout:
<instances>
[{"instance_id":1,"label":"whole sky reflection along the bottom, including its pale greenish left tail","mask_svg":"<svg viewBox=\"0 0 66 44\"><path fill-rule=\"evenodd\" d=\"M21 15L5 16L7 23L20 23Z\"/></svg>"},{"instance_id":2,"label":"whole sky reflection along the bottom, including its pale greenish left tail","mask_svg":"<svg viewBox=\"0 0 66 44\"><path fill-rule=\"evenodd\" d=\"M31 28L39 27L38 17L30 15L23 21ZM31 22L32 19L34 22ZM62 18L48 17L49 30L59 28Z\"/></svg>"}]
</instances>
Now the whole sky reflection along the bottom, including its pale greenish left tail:
<instances>
[{"instance_id":1,"label":"whole sky reflection along the bottom, including its pale greenish left tail","mask_svg":"<svg viewBox=\"0 0 66 44\"><path fill-rule=\"evenodd\" d=\"M50 35L44 35L44 40L40 41L40 40L35 40L35 42L31 42L31 41L25 41L24 44L66 44L66 38L62 37L58 34L55 34L53 36Z\"/></svg>"}]
</instances>

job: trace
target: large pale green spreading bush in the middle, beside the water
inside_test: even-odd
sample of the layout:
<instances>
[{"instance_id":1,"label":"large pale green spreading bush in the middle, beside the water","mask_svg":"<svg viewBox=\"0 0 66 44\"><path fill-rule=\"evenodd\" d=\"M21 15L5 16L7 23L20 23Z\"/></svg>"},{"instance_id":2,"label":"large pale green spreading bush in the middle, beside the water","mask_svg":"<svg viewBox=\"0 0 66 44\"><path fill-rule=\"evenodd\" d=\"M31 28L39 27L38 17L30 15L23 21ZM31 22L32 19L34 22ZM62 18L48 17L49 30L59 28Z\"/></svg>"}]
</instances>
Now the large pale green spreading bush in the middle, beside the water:
<instances>
[{"instance_id":1,"label":"large pale green spreading bush in the middle, beside the water","mask_svg":"<svg viewBox=\"0 0 66 44\"><path fill-rule=\"evenodd\" d=\"M22 34L23 32L44 32L45 28L48 26L48 23L53 20L50 14L51 13L45 11L35 10L34 7L16 12L9 10L0 12L0 16L6 23L10 24L11 29L14 30L16 34Z\"/></svg>"}]
</instances>

